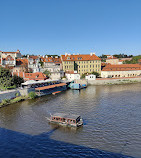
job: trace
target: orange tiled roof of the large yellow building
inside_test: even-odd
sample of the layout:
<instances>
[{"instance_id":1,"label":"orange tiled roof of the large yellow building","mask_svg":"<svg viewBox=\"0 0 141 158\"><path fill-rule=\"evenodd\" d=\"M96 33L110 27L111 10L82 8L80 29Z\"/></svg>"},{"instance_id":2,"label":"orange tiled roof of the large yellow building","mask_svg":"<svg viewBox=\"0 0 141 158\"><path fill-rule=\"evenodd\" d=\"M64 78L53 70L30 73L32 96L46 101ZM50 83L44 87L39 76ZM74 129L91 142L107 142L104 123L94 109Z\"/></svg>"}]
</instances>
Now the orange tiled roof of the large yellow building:
<instances>
[{"instance_id":1,"label":"orange tiled roof of the large yellow building","mask_svg":"<svg viewBox=\"0 0 141 158\"><path fill-rule=\"evenodd\" d=\"M80 54L80 55L61 55L63 61L89 61L89 60L101 60L95 54Z\"/></svg>"}]
</instances>

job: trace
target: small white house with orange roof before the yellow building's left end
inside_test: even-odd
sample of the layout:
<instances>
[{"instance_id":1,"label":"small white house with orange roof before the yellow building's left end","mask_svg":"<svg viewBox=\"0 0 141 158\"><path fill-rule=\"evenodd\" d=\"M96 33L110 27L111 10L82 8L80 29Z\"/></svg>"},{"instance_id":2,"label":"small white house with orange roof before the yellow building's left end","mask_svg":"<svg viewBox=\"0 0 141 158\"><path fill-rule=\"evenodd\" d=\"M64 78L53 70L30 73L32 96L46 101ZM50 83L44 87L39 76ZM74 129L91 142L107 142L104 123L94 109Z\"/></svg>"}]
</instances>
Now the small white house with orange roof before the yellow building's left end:
<instances>
[{"instance_id":1,"label":"small white house with orange roof before the yellow building's left end","mask_svg":"<svg viewBox=\"0 0 141 158\"><path fill-rule=\"evenodd\" d=\"M68 71L65 73L65 76L69 81L80 79L80 74L78 74L77 71L70 71L70 72Z\"/></svg>"}]
</instances>

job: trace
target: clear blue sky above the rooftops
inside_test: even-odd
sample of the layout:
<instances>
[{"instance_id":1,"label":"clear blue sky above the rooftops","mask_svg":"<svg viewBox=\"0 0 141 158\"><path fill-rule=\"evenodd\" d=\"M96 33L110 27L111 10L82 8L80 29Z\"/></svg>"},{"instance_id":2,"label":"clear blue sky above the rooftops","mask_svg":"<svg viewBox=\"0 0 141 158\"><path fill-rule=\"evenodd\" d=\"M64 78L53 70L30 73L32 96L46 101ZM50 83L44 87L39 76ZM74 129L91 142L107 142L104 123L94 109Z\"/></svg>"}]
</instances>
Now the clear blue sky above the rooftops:
<instances>
[{"instance_id":1,"label":"clear blue sky above the rooftops","mask_svg":"<svg viewBox=\"0 0 141 158\"><path fill-rule=\"evenodd\" d=\"M141 0L0 0L0 50L141 54Z\"/></svg>"}]
</instances>

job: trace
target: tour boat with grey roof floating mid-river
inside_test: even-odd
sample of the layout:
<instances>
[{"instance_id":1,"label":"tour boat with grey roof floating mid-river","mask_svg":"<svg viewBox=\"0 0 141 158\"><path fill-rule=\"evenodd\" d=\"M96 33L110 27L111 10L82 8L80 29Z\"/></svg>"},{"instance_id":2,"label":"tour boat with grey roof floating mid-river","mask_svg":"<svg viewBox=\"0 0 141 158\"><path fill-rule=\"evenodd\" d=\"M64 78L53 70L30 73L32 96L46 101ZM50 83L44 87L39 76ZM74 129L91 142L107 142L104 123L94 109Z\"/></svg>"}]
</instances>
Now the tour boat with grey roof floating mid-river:
<instances>
[{"instance_id":1,"label":"tour boat with grey roof floating mid-river","mask_svg":"<svg viewBox=\"0 0 141 158\"><path fill-rule=\"evenodd\" d=\"M80 115L55 113L51 115L49 121L62 126L79 127L83 125L83 120Z\"/></svg>"}]
</instances>

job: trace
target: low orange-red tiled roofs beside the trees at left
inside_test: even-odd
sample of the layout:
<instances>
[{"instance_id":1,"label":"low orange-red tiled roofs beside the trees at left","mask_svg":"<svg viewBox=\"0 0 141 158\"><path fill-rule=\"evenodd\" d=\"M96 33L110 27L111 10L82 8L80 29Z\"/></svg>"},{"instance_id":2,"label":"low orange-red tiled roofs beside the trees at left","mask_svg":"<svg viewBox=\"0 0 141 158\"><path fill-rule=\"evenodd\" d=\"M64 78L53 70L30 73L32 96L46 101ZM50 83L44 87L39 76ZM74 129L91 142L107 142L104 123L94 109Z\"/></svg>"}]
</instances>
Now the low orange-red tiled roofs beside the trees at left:
<instances>
[{"instance_id":1,"label":"low orange-red tiled roofs beside the trees at left","mask_svg":"<svg viewBox=\"0 0 141 158\"><path fill-rule=\"evenodd\" d=\"M13 72L12 76L14 75L22 77L24 81L27 81L27 80L39 81L39 80L47 79L46 75L43 74L42 72L36 72L36 73Z\"/></svg>"}]
</instances>

